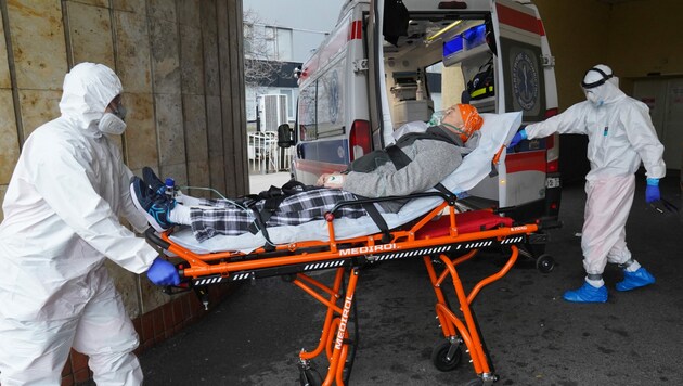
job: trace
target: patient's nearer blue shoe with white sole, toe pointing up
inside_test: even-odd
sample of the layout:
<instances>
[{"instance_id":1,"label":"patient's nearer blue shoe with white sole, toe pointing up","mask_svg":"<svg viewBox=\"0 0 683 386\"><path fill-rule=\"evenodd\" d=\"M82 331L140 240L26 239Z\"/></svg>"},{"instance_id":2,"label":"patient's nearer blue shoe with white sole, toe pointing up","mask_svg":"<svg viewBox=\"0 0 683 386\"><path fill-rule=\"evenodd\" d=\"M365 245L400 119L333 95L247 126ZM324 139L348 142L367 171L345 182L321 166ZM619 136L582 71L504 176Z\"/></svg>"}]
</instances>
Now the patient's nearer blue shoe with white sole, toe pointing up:
<instances>
[{"instance_id":1,"label":"patient's nearer blue shoe with white sole, toe pointing up","mask_svg":"<svg viewBox=\"0 0 683 386\"><path fill-rule=\"evenodd\" d=\"M176 201L164 194L156 194L137 176L130 179L130 196L138 210L144 214L147 222L157 231L164 232L173 226L168 215Z\"/></svg>"}]
</instances>

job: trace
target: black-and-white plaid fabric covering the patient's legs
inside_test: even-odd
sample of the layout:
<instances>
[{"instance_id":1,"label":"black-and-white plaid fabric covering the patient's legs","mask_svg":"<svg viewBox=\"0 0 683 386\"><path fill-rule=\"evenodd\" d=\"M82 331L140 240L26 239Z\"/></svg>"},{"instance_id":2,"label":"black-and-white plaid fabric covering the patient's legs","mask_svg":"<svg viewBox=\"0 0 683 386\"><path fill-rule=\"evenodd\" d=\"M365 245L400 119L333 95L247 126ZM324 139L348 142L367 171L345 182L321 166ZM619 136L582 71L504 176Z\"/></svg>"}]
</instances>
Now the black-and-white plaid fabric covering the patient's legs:
<instances>
[{"instance_id":1,"label":"black-and-white plaid fabric covering the patient's legs","mask_svg":"<svg viewBox=\"0 0 683 386\"><path fill-rule=\"evenodd\" d=\"M315 189L293 194L286 197L278 210L268 220L268 227L298 226L312 220L321 220L326 211L342 201L352 201L356 196L349 192L337 189ZM260 211L263 201L256 203L255 208ZM229 200L202 200L203 206L211 208L193 207L190 210L192 219L192 232L197 241L202 242L217 234L239 235L248 231L254 222L254 211ZM365 216L365 209L360 206L345 206L336 216L358 218Z\"/></svg>"}]
</instances>

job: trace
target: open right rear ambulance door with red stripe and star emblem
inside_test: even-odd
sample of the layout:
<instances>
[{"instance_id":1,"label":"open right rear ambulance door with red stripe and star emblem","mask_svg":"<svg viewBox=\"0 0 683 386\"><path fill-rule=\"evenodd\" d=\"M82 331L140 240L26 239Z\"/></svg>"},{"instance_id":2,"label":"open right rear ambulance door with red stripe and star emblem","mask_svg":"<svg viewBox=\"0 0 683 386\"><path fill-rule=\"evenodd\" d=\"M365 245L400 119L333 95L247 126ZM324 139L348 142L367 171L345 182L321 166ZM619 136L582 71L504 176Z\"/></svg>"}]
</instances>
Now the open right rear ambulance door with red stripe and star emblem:
<instances>
[{"instance_id":1,"label":"open right rear ambulance door with red stripe and star emblem","mask_svg":"<svg viewBox=\"0 0 683 386\"><path fill-rule=\"evenodd\" d=\"M495 31L498 112L523 112L523 123L545 119L547 54L543 52L543 28L534 8L511 0L497 0L491 14ZM552 82L554 86L554 73ZM551 89L551 92L553 90ZM553 106L553 107L556 107ZM525 141L506 154L499 168L499 205L517 206L515 218L536 219L546 213L547 150L554 137Z\"/></svg>"}]
</instances>

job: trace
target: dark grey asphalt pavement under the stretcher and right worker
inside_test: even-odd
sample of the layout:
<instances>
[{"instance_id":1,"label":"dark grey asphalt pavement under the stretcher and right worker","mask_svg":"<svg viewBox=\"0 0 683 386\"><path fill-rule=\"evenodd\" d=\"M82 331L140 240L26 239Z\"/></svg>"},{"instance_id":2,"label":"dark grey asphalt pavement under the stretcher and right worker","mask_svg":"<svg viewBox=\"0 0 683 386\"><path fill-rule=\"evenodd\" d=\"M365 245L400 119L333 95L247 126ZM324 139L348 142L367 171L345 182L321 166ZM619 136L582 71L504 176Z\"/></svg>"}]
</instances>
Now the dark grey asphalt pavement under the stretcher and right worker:
<instances>
[{"instance_id":1,"label":"dark grey asphalt pavement under the stretcher and right worker","mask_svg":"<svg viewBox=\"0 0 683 386\"><path fill-rule=\"evenodd\" d=\"M669 176L661 182L662 195L680 204L679 173ZM614 285L621 272L609 266L606 304L562 299L584 276L577 236L583 185L564 186L564 227L551 232L546 247L555 269L540 273L521 260L473 303L500 376L497 385L683 384L683 226L679 216L645 205L644 180L639 175L627 242L657 283L619 293ZM504 260L491 250L464 263L459 272L466 288ZM317 279L328 276L323 272ZM359 336L350 385L463 385L475 377L466 360L451 372L431 363L433 348L443 340L422 259L363 269L356 301ZM211 308L198 323L143 352L145 385L299 384L297 353L318 344L322 306L291 283L270 278L241 285ZM324 374L323 363L317 364Z\"/></svg>"}]
</instances>

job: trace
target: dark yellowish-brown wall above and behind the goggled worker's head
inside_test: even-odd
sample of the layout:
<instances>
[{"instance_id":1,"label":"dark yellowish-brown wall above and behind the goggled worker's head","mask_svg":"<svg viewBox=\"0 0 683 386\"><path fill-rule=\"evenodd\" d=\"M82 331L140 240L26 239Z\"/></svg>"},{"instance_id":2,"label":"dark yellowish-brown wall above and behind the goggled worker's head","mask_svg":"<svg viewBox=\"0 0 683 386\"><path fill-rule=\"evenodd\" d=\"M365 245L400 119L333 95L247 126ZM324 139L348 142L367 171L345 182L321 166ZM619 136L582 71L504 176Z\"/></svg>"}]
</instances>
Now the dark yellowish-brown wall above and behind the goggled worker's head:
<instances>
[{"instance_id":1,"label":"dark yellowish-brown wall above and behind the goggled worker's head","mask_svg":"<svg viewBox=\"0 0 683 386\"><path fill-rule=\"evenodd\" d=\"M630 79L648 74L683 75L679 0L607 4L595 0L534 0L551 50L559 110L584 99L580 81L591 66L609 65L631 91Z\"/></svg>"}]
</instances>

